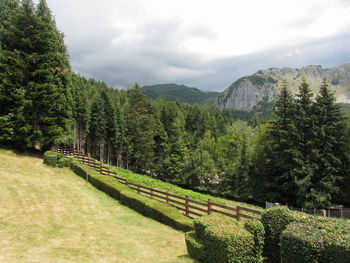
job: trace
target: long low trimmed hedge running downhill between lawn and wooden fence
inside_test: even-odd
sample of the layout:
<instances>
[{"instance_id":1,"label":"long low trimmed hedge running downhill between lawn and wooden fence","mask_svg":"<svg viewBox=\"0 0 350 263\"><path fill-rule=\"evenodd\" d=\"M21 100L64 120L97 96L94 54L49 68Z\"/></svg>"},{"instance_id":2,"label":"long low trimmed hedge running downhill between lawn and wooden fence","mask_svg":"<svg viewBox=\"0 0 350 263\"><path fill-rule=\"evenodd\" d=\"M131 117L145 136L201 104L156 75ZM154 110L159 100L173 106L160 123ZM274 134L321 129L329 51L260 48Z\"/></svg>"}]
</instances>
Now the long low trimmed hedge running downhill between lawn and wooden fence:
<instances>
[{"instance_id":1,"label":"long low trimmed hedge running downhill between lawn and wooden fence","mask_svg":"<svg viewBox=\"0 0 350 263\"><path fill-rule=\"evenodd\" d=\"M193 229L193 221L179 213L176 208L137 194L111 176L102 175L77 161L71 163L71 169L83 178L86 178L86 174L88 174L89 182L93 186L145 216L151 217L178 230L189 231Z\"/></svg>"}]
</instances>

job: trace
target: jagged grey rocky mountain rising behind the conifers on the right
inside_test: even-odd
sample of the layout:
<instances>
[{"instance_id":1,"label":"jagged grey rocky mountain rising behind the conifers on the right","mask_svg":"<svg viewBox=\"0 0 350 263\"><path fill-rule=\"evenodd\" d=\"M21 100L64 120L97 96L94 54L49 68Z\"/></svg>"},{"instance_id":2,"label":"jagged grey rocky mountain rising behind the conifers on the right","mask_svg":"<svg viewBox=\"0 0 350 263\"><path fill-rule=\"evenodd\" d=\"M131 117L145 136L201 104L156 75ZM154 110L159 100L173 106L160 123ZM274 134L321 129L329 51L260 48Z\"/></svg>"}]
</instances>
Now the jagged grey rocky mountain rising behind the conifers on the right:
<instances>
[{"instance_id":1,"label":"jagged grey rocky mountain rising behind the conifers on the right","mask_svg":"<svg viewBox=\"0 0 350 263\"><path fill-rule=\"evenodd\" d=\"M235 81L215 100L220 109L250 111L262 100L273 101L277 98L282 81L286 80L292 93L305 77L316 95L323 78L326 78L334 90L337 101L350 103L350 63L338 67L323 69L319 65L311 65L301 69L270 68L259 70L253 75Z\"/></svg>"}]
</instances>

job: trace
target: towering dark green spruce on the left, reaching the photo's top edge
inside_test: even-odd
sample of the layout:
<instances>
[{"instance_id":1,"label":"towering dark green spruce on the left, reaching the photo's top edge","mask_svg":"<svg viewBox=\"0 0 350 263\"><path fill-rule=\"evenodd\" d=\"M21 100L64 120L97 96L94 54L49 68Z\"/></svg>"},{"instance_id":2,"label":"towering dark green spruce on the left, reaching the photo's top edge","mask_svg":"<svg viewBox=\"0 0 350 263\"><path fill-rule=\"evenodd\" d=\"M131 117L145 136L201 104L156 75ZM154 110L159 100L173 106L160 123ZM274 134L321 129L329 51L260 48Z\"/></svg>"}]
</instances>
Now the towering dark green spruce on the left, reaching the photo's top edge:
<instances>
[{"instance_id":1,"label":"towering dark green spruce on the left, reaching the photo's top edge","mask_svg":"<svg viewBox=\"0 0 350 263\"><path fill-rule=\"evenodd\" d=\"M14 141L42 149L71 142L68 55L46 2L36 12L31 0L23 0L1 35L0 64L7 70L0 97L11 96L1 114L15 116Z\"/></svg>"}]
</instances>

